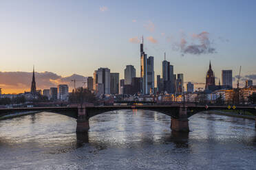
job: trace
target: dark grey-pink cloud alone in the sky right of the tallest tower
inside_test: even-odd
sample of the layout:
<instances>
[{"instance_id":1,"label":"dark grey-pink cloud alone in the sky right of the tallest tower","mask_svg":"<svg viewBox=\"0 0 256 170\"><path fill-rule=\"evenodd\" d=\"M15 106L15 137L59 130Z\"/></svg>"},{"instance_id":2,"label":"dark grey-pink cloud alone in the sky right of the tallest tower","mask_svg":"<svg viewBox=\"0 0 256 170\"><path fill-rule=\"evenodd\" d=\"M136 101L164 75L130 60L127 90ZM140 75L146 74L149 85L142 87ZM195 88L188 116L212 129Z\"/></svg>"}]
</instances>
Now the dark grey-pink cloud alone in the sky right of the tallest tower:
<instances>
[{"instance_id":1,"label":"dark grey-pink cloud alone in the sky right of the tallest tower","mask_svg":"<svg viewBox=\"0 0 256 170\"><path fill-rule=\"evenodd\" d=\"M201 32L200 34L192 35L192 42L185 39L186 36L182 36L180 43L175 43L173 49L180 50L182 56L186 53L193 55L200 55L202 53L215 53L215 48L211 47L211 41L209 40L208 32Z\"/></svg>"}]
</instances>

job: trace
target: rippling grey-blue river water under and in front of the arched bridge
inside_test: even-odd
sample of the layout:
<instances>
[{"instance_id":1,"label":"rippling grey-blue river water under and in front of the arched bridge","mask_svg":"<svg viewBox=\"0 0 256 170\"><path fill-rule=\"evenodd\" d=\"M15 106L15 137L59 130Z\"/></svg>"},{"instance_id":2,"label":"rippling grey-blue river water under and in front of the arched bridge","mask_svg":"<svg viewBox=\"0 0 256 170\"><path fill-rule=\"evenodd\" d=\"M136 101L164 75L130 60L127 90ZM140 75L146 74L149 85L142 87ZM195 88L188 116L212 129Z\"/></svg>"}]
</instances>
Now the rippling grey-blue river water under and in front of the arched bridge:
<instances>
[{"instance_id":1,"label":"rippling grey-blue river water under and in front of the arched bridge","mask_svg":"<svg viewBox=\"0 0 256 170\"><path fill-rule=\"evenodd\" d=\"M0 169L256 169L255 121L199 113L189 134L170 117L119 110L76 120L41 112L0 121Z\"/></svg>"}]
</instances>

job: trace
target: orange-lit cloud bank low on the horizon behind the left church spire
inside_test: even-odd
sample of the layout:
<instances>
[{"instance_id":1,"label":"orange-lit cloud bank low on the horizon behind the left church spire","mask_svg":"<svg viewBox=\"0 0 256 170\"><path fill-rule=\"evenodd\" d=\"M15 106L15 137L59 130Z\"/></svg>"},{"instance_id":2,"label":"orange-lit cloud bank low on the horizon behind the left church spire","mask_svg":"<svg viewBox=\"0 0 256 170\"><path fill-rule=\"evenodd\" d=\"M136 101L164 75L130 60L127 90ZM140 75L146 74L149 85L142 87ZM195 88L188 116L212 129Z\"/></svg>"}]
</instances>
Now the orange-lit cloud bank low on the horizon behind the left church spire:
<instances>
[{"instance_id":1,"label":"orange-lit cloud bank low on the horizon behind the left church spire","mask_svg":"<svg viewBox=\"0 0 256 170\"><path fill-rule=\"evenodd\" d=\"M76 86L83 86L85 78L83 75L70 75L62 77L52 72L35 72L36 88L47 89L50 87L56 87L58 84L67 84L70 90L74 87L74 83L71 80L76 79ZM24 90L30 91L32 82L31 72L0 72L0 88L4 93L23 93Z\"/></svg>"}]
</instances>

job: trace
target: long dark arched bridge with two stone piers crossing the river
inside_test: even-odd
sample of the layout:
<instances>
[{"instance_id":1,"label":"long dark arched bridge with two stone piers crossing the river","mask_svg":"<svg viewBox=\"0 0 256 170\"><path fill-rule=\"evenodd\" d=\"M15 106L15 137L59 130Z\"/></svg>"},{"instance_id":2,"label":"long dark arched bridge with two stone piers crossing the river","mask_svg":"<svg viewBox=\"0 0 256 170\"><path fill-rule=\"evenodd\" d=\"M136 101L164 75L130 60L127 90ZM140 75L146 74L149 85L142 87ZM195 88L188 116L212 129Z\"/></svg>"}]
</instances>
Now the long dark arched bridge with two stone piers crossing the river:
<instances>
[{"instance_id":1,"label":"long dark arched bridge with two stone piers crossing the river","mask_svg":"<svg viewBox=\"0 0 256 170\"><path fill-rule=\"evenodd\" d=\"M89 130L89 118L104 112L114 110L152 110L167 114L171 117L171 130L189 132L189 117L198 112L206 110L226 110L227 106L72 106L72 107L36 107L36 108L0 108L0 117L14 112L39 111L54 112L77 119L76 132L87 132ZM237 106L232 110L245 110L256 115L255 107ZM256 119L255 119L256 127Z\"/></svg>"}]
</instances>

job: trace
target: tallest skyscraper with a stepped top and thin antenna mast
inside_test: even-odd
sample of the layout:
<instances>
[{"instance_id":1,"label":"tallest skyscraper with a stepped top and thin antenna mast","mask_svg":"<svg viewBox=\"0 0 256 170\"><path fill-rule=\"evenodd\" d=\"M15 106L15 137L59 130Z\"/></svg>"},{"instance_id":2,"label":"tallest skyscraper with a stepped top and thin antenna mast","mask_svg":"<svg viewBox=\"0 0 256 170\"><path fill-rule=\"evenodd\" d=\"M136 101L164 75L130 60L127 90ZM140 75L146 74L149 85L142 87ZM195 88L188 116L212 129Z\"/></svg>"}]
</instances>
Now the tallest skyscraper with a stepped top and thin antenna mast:
<instances>
[{"instance_id":1,"label":"tallest skyscraper with a stepped top and thin antenna mast","mask_svg":"<svg viewBox=\"0 0 256 170\"><path fill-rule=\"evenodd\" d=\"M142 78L141 92L148 94L147 88L147 54L143 50L143 37L142 44L140 44L140 77Z\"/></svg>"}]
</instances>

